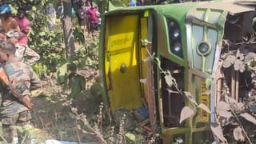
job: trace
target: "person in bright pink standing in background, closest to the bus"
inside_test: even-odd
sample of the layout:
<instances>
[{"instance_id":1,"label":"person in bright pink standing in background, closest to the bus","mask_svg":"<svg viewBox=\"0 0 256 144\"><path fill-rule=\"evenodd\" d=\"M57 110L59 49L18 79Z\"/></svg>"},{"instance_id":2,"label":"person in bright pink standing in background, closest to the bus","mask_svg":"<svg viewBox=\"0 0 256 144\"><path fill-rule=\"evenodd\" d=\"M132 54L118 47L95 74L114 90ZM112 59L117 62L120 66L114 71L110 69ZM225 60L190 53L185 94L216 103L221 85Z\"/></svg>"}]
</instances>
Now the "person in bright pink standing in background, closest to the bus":
<instances>
[{"instance_id":1,"label":"person in bright pink standing in background, closest to the bus","mask_svg":"<svg viewBox=\"0 0 256 144\"><path fill-rule=\"evenodd\" d=\"M90 21L90 34L94 37L94 31L98 30L98 10L97 8L91 6L89 10L86 11L89 16Z\"/></svg>"}]
</instances>

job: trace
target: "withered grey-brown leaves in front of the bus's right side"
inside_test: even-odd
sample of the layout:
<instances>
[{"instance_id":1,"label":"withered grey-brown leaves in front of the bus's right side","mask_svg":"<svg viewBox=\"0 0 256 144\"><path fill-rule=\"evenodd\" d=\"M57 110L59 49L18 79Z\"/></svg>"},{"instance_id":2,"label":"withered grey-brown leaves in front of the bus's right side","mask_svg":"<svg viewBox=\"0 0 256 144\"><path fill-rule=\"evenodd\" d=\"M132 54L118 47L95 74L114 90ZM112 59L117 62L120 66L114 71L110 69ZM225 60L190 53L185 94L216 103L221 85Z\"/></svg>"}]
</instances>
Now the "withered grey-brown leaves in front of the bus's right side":
<instances>
[{"instance_id":1,"label":"withered grey-brown leaves in front of the bus's right side","mask_svg":"<svg viewBox=\"0 0 256 144\"><path fill-rule=\"evenodd\" d=\"M224 48L219 59L220 74L223 78L223 86L219 92L221 101L216 105L216 122L210 125L214 135L222 142L247 141L253 143L255 141L255 130L251 128L256 125L255 110L252 108L256 106L256 54L250 50L240 48L232 50L230 43L224 41ZM235 70L244 78L250 78L250 83L246 83L242 89L246 91L246 94L239 93L239 101L231 98L230 86L227 82L229 74L224 74L225 70ZM191 98L188 99L191 101ZM194 103L194 101L191 102ZM200 107L204 109L204 107ZM183 108L183 110L185 109L187 108Z\"/></svg>"}]
</instances>

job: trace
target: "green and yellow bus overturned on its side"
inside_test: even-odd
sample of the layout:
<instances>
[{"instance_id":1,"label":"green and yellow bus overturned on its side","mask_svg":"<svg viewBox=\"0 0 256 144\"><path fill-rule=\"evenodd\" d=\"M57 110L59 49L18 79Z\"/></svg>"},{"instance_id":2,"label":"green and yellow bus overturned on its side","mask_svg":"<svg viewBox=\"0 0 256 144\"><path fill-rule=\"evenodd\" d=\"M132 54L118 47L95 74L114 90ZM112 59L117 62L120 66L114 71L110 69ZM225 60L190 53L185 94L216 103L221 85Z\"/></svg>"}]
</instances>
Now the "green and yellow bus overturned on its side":
<instances>
[{"instance_id":1,"label":"green and yellow bus overturned on its side","mask_svg":"<svg viewBox=\"0 0 256 144\"><path fill-rule=\"evenodd\" d=\"M237 102L250 96L256 79L245 67L256 52L255 2L186 2L112 10L102 18L100 73L110 114L146 107L162 143L210 143L210 122L222 90ZM238 62L234 62L239 60ZM239 67L240 66L240 67ZM211 114L198 110L180 123L190 105L166 83L188 91Z\"/></svg>"}]
</instances>

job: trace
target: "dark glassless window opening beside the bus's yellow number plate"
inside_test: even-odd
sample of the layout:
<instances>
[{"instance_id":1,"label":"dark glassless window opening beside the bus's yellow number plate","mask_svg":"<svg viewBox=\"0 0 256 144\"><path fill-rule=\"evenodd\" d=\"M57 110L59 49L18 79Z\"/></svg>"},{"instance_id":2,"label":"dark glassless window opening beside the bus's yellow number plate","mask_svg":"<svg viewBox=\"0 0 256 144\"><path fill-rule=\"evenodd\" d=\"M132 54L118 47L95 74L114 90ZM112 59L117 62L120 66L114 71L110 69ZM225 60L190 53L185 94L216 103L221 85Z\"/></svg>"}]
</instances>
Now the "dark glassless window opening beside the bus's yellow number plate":
<instances>
[{"instance_id":1,"label":"dark glassless window opening beside the bus's yellow number plate","mask_svg":"<svg viewBox=\"0 0 256 144\"><path fill-rule=\"evenodd\" d=\"M169 70L170 74L172 74L172 76L176 79L178 89L184 90L184 67L171 62L167 58L161 59L161 67L162 70ZM161 75L161 83L164 125L166 127L185 126L185 122L182 122L181 124L179 123L181 110L185 106L184 97L181 94L176 93L177 90L174 86L170 87L167 85L164 74Z\"/></svg>"}]
</instances>

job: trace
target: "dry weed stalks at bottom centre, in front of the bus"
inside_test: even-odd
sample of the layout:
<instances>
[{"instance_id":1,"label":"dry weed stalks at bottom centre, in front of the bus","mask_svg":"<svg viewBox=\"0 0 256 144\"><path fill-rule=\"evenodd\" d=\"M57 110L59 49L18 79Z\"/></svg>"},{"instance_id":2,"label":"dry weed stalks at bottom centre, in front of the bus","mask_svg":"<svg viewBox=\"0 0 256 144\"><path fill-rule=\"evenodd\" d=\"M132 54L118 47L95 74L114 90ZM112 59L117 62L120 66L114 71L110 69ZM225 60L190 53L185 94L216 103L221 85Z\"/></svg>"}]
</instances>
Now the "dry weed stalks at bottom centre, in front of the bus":
<instances>
[{"instance_id":1,"label":"dry weed stalks at bottom centre, in front of the bus","mask_svg":"<svg viewBox=\"0 0 256 144\"><path fill-rule=\"evenodd\" d=\"M134 134L127 130L127 115L121 114L120 121L115 123L111 122L109 125L106 126L106 122L109 120L106 119L106 114L103 110L103 103L101 102L98 106L98 113L96 118L91 121L86 114L82 111L79 111L77 108L74 107L73 99L67 100L66 97L62 97L61 101L63 102L63 106L68 106L74 116L78 119L78 130L81 130L84 134L91 134L98 138L99 143L108 143L108 144L130 144L130 143L148 143L153 144L155 143L155 138L159 135L156 134L155 137L150 136L149 138L145 138L144 135ZM105 126L103 126L105 123ZM105 130L104 130L105 129Z\"/></svg>"}]
</instances>

